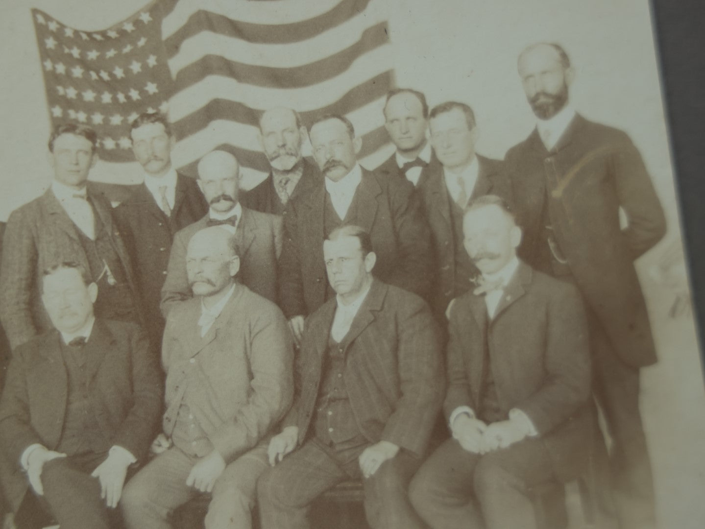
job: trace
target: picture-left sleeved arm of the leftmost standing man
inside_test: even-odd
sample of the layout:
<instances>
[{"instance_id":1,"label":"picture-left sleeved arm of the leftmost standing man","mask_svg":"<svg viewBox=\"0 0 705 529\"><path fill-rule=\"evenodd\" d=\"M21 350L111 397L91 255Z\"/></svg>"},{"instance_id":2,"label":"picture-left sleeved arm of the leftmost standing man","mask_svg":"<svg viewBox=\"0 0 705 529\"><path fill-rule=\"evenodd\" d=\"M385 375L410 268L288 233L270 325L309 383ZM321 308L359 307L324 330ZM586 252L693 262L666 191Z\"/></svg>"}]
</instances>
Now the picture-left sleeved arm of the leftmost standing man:
<instances>
[{"instance_id":1,"label":"picture-left sleeved arm of the leftmost standing man","mask_svg":"<svg viewBox=\"0 0 705 529\"><path fill-rule=\"evenodd\" d=\"M0 320L11 349L16 349L37 335L32 318L32 291L37 280L37 243L30 219L23 209L11 213L3 244Z\"/></svg>"}]
</instances>

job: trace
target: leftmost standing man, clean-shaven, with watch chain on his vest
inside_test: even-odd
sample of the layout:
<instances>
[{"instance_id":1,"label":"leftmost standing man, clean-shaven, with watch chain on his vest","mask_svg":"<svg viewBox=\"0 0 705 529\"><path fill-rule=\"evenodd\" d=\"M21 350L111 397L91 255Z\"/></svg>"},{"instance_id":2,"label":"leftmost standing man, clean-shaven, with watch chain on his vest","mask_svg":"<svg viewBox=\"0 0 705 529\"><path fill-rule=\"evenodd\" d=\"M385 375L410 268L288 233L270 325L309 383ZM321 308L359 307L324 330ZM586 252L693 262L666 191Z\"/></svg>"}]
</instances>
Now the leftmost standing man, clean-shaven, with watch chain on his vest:
<instances>
[{"instance_id":1,"label":"leftmost standing man, clean-shaven, with watch chain on his vest","mask_svg":"<svg viewBox=\"0 0 705 529\"><path fill-rule=\"evenodd\" d=\"M85 125L58 125L49 139L51 187L13 211L0 271L0 320L13 349L49 330L41 302L42 270L78 261L98 285L99 318L141 321L130 258L110 204L86 185L98 160L97 135Z\"/></svg>"}]
</instances>

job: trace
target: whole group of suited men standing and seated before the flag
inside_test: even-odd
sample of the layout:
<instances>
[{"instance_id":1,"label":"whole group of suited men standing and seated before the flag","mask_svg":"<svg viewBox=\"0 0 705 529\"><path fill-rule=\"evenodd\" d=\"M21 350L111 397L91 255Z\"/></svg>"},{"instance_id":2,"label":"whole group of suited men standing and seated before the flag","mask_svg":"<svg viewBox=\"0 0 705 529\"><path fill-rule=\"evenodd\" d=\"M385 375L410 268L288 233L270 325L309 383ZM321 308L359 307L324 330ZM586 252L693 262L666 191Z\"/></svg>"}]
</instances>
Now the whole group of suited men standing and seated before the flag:
<instances>
[{"instance_id":1,"label":"whole group of suited men standing and seated before the flag","mask_svg":"<svg viewBox=\"0 0 705 529\"><path fill-rule=\"evenodd\" d=\"M537 127L504 161L475 152L467 104L395 89L379 168L344 116L272 108L271 173L241 192L226 151L178 174L168 122L144 114L145 181L112 210L86 185L95 133L57 127L51 188L11 214L0 268L18 527L39 502L61 527L168 528L206 493L209 529L255 506L263 529L305 528L360 478L372 528L537 528L533 490L595 475L593 396L601 523L654 527L634 261L663 211L627 135L570 105L560 46L518 70Z\"/></svg>"}]
</instances>

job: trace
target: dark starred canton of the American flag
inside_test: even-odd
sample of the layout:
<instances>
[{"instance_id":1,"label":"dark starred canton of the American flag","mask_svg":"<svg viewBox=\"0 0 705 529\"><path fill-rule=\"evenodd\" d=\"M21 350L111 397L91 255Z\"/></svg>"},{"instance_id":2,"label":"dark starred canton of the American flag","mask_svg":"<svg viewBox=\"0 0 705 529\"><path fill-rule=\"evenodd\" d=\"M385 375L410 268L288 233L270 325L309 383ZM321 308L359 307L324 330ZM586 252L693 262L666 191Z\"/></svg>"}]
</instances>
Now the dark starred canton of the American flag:
<instances>
[{"instance_id":1,"label":"dark starred canton of the American flag","mask_svg":"<svg viewBox=\"0 0 705 529\"><path fill-rule=\"evenodd\" d=\"M32 9L51 125L93 127L106 161L133 161L130 123L168 110L173 81L154 4L103 31L81 31Z\"/></svg>"}]
</instances>

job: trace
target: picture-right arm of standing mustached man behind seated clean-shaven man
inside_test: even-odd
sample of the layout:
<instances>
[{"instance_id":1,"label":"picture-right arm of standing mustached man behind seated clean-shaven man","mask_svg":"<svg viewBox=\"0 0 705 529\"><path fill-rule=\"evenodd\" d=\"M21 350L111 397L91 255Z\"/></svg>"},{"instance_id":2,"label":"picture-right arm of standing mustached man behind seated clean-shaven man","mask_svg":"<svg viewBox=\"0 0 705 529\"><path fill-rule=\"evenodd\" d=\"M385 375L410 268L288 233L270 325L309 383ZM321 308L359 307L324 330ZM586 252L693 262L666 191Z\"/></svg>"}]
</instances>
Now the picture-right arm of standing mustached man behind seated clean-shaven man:
<instances>
[{"instance_id":1,"label":"picture-right arm of standing mustached man behind seated clean-shaven man","mask_svg":"<svg viewBox=\"0 0 705 529\"><path fill-rule=\"evenodd\" d=\"M398 262L387 282L427 297L431 289L431 230L421 200L406 179L389 179L387 185L399 249Z\"/></svg>"}]
</instances>

